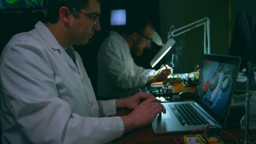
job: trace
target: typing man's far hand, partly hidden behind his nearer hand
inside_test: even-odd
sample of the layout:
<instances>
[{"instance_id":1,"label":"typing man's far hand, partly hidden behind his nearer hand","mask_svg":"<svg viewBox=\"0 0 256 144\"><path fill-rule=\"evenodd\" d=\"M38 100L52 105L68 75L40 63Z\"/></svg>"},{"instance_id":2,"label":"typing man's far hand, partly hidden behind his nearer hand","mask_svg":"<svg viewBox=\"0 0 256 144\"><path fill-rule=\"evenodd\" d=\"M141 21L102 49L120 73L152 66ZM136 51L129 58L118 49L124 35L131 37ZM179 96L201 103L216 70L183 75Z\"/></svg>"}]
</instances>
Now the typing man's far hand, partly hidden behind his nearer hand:
<instances>
[{"instance_id":1,"label":"typing man's far hand, partly hidden behind his nearer hand","mask_svg":"<svg viewBox=\"0 0 256 144\"><path fill-rule=\"evenodd\" d=\"M136 109L136 107L138 107L140 100L146 100L149 98L154 98L154 95L146 92L137 92L131 97L117 99L115 103L117 107L126 107L128 109L133 110Z\"/></svg>"}]
</instances>

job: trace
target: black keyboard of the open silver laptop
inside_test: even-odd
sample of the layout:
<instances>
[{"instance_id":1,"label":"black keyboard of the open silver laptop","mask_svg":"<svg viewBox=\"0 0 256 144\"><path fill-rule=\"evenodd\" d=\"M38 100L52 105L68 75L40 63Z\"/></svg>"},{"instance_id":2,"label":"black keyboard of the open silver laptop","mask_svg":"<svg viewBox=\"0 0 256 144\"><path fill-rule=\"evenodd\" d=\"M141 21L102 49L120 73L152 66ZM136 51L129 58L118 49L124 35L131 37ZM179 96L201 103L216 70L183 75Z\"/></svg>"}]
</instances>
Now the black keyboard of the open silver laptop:
<instances>
[{"instance_id":1,"label":"black keyboard of the open silver laptop","mask_svg":"<svg viewBox=\"0 0 256 144\"><path fill-rule=\"evenodd\" d=\"M190 104L169 105L182 125L210 124Z\"/></svg>"}]
</instances>

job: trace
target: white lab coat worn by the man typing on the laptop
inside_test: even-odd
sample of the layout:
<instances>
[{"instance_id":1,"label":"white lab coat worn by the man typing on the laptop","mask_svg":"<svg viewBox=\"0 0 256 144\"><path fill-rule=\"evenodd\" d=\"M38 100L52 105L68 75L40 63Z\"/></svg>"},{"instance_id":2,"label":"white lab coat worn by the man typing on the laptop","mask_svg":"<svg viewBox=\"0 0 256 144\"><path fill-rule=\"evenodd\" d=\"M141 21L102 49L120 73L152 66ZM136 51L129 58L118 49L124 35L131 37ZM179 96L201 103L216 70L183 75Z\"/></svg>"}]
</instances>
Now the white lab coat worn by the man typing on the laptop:
<instances>
[{"instance_id":1,"label":"white lab coat worn by the man typing on the laptop","mask_svg":"<svg viewBox=\"0 0 256 144\"><path fill-rule=\"evenodd\" d=\"M3 143L107 143L123 134L115 100L96 101L82 59L67 55L38 22L1 56Z\"/></svg>"}]
</instances>

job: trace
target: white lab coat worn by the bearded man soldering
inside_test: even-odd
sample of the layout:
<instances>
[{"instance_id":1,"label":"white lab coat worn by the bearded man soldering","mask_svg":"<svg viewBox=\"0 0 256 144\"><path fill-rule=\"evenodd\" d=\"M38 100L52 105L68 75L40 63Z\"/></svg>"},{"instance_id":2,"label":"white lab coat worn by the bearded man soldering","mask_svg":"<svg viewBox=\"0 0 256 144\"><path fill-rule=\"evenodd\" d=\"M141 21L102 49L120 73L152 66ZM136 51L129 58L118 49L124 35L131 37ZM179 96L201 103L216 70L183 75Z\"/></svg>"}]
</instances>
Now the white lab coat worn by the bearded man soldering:
<instances>
[{"instance_id":1,"label":"white lab coat worn by the bearded man soldering","mask_svg":"<svg viewBox=\"0 0 256 144\"><path fill-rule=\"evenodd\" d=\"M110 32L97 56L97 96L101 99L129 97L147 83L154 69L138 67L131 57L126 40Z\"/></svg>"}]
</instances>

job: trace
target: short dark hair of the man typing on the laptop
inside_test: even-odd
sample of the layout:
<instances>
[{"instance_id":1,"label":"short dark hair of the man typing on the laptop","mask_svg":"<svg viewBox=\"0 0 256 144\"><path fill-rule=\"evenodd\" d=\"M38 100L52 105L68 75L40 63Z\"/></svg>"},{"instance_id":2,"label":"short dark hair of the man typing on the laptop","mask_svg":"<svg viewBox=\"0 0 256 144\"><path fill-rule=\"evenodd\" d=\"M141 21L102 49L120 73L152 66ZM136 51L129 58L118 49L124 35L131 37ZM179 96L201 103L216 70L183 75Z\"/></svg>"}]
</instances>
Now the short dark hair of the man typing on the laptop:
<instances>
[{"instance_id":1,"label":"short dark hair of the man typing on the laptop","mask_svg":"<svg viewBox=\"0 0 256 144\"><path fill-rule=\"evenodd\" d=\"M59 10L62 6L81 10L88 7L88 2L91 0L48 0L47 2L47 20L50 23L56 23L59 19ZM98 0L100 3L100 0ZM72 10L74 17L78 17L78 11Z\"/></svg>"}]
</instances>

